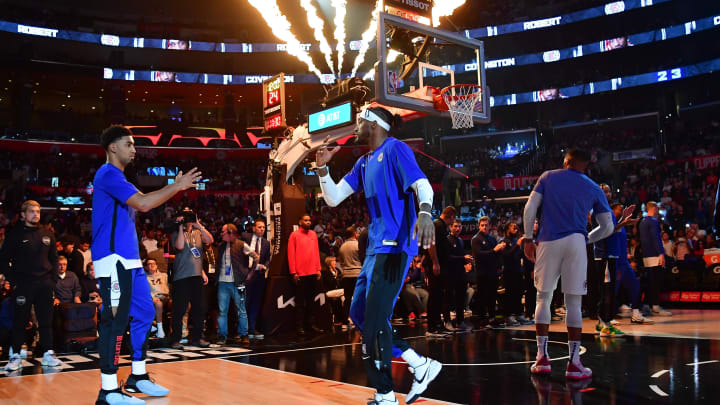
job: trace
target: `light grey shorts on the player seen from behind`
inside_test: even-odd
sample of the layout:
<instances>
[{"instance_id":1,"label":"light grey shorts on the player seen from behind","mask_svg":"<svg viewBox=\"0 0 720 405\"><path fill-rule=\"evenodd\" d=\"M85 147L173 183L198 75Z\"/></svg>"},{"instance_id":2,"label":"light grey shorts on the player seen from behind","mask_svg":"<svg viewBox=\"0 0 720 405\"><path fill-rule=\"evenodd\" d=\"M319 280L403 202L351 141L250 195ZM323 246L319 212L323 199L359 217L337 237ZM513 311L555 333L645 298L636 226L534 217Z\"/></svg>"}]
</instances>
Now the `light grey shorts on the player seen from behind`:
<instances>
[{"instance_id":1,"label":"light grey shorts on the player seen from behind","mask_svg":"<svg viewBox=\"0 0 720 405\"><path fill-rule=\"evenodd\" d=\"M574 233L538 244L535 288L540 292L553 292L560 277L565 294L587 294L587 251L584 235Z\"/></svg>"}]
</instances>

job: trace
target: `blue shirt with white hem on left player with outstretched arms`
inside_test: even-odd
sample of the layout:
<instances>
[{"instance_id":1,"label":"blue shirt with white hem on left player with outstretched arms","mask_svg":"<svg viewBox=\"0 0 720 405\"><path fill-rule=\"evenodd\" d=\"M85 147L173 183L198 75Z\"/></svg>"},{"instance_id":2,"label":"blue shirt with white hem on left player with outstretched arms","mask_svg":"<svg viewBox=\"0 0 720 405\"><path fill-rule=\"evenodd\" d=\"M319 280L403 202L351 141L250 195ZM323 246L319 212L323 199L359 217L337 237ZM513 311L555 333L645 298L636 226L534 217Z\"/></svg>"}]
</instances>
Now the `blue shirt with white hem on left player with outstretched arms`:
<instances>
[{"instance_id":1,"label":"blue shirt with white hem on left player with outstretched arms","mask_svg":"<svg viewBox=\"0 0 720 405\"><path fill-rule=\"evenodd\" d=\"M95 277L109 277L118 261L126 269L142 267L135 210L127 205L138 189L110 163L98 169L93 185L91 252Z\"/></svg>"}]
</instances>

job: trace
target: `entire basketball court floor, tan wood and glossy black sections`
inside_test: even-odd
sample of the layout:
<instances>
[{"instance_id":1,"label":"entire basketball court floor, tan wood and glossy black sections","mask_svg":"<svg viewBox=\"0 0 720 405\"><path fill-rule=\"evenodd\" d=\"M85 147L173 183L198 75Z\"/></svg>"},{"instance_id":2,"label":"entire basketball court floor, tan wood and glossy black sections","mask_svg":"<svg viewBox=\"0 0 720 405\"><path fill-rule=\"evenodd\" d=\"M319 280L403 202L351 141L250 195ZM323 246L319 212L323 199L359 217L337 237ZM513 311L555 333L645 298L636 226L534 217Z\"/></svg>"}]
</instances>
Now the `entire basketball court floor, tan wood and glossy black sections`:
<instances>
[{"instance_id":1,"label":"entire basketball court floor, tan wood and glossy black sections","mask_svg":"<svg viewBox=\"0 0 720 405\"><path fill-rule=\"evenodd\" d=\"M530 374L537 346L535 333L523 328L477 329L443 338L425 337L420 322L397 325L419 353L443 363L443 371L424 393L421 405L456 404L720 404L720 311L673 310L655 325L621 320L628 336L600 338L585 321L581 359L592 380L565 378L567 334L553 322L548 351L552 373ZM470 318L471 323L478 319ZM529 329L529 328L528 328ZM319 336L269 337L249 349L237 346L155 347L148 371L171 389L154 404L365 404L373 390L361 360L357 331L335 330ZM24 361L21 372L1 368L0 405L89 404L99 388L97 353L60 354L60 370L43 369L38 358ZM128 356L120 378L129 374ZM55 371L52 373L52 371ZM15 376L13 376L15 375ZM400 359L393 380L402 403L412 374ZM432 398L430 400L429 398Z\"/></svg>"}]
</instances>

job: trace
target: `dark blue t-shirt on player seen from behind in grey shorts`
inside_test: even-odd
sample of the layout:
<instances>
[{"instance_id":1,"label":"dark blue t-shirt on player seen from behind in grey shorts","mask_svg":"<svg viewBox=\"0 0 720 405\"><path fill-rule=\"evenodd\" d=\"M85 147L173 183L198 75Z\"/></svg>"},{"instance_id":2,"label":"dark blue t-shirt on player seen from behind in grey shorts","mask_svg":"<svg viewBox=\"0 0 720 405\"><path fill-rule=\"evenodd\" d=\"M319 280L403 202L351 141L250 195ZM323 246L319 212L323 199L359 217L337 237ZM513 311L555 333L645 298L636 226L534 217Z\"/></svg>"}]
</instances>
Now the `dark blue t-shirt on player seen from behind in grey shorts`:
<instances>
[{"instance_id":1,"label":"dark blue t-shirt on player seen from behind in grey shorts","mask_svg":"<svg viewBox=\"0 0 720 405\"><path fill-rule=\"evenodd\" d=\"M587 239L588 214L610 212L600 186L573 169L549 170L540 176L535 189L543 196L538 241L549 242L574 233Z\"/></svg>"}]
</instances>

